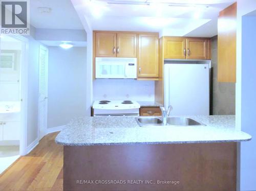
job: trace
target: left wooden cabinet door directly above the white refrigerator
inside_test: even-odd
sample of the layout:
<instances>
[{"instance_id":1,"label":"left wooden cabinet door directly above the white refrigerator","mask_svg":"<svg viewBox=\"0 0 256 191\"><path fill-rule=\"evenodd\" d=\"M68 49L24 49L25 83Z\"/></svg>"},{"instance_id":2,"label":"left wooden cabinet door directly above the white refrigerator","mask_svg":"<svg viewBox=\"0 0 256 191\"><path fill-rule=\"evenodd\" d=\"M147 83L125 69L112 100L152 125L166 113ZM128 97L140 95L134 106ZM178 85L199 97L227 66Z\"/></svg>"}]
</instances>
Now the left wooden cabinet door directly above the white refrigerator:
<instances>
[{"instance_id":1,"label":"left wooden cabinet door directly above the white refrigerator","mask_svg":"<svg viewBox=\"0 0 256 191\"><path fill-rule=\"evenodd\" d=\"M186 38L164 37L164 59L186 59Z\"/></svg>"}]
</instances>

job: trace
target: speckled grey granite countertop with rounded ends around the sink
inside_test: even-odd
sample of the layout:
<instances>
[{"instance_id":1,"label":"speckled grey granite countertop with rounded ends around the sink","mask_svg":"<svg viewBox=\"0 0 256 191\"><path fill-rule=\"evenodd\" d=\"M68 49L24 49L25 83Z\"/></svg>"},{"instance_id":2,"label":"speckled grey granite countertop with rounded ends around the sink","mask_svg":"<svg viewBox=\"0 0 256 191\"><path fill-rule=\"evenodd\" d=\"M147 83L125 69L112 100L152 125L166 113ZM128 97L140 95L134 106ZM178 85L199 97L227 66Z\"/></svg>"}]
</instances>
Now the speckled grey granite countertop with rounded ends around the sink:
<instances>
[{"instance_id":1,"label":"speckled grey granite countertop with rounded ends around the sink","mask_svg":"<svg viewBox=\"0 0 256 191\"><path fill-rule=\"evenodd\" d=\"M139 127L132 116L76 118L56 137L65 146L240 142L251 136L235 129L234 115L189 116L207 126Z\"/></svg>"}]
</instances>

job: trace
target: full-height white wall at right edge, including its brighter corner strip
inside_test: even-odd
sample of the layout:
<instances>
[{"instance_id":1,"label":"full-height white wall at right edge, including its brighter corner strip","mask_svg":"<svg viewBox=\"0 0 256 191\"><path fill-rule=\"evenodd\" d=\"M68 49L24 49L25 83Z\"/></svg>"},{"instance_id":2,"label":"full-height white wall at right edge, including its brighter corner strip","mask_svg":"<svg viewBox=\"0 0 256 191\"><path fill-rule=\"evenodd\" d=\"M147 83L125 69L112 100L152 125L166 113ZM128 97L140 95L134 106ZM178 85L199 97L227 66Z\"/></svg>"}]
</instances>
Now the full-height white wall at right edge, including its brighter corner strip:
<instances>
[{"instance_id":1,"label":"full-height white wall at right edge, including its brighter corner strip","mask_svg":"<svg viewBox=\"0 0 256 191\"><path fill-rule=\"evenodd\" d=\"M241 143L240 161L240 189L256 190L256 77L255 60L255 18L243 18L251 11L256 10L255 0L238 0L237 17L237 84L236 84L236 125L252 135L252 140ZM243 18L243 20L242 20ZM239 153L238 153L239 154ZM239 189L239 188L238 188Z\"/></svg>"}]
</instances>

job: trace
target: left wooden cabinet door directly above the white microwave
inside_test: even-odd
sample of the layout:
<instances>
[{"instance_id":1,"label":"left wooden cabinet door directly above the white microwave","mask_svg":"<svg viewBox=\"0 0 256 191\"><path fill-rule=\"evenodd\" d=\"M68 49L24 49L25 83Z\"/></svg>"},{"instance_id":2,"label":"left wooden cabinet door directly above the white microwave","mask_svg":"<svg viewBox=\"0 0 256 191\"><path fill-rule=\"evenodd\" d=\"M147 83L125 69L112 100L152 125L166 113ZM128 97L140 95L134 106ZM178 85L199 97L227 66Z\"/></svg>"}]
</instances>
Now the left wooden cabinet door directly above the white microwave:
<instances>
[{"instance_id":1,"label":"left wooden cabinet door directly above the white microwave","mask_svg":"<svg viewBox=\"0 0 256 191\"><path fill-rule=\"evenodd\" d=\"M116 33L96 33L96 57L116 57Z\"/></svg>"}]
</instances>

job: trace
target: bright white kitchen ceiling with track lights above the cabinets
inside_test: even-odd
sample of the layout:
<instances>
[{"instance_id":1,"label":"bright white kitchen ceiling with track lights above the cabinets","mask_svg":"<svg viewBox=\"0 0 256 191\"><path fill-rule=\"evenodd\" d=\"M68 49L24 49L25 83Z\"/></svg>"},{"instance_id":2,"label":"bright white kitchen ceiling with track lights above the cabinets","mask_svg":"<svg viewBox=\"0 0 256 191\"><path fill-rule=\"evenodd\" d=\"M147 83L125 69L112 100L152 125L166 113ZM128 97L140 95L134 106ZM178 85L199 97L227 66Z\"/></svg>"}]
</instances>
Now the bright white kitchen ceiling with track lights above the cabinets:
<instances>
[{"instance_id":1,"label":"bright white kitchen ceiling with track lights above the cabinets","mask_svg":"<svg viewBox=\"0 0 256 191\"><path fill-rule=\"evenodd\" d=\"M93 30L217 35L219 12L234 0L71 0ZM82 11L81 11L82 10ZM198 30L197 30L198 29Z\"/></svg>"}]
</instances>

